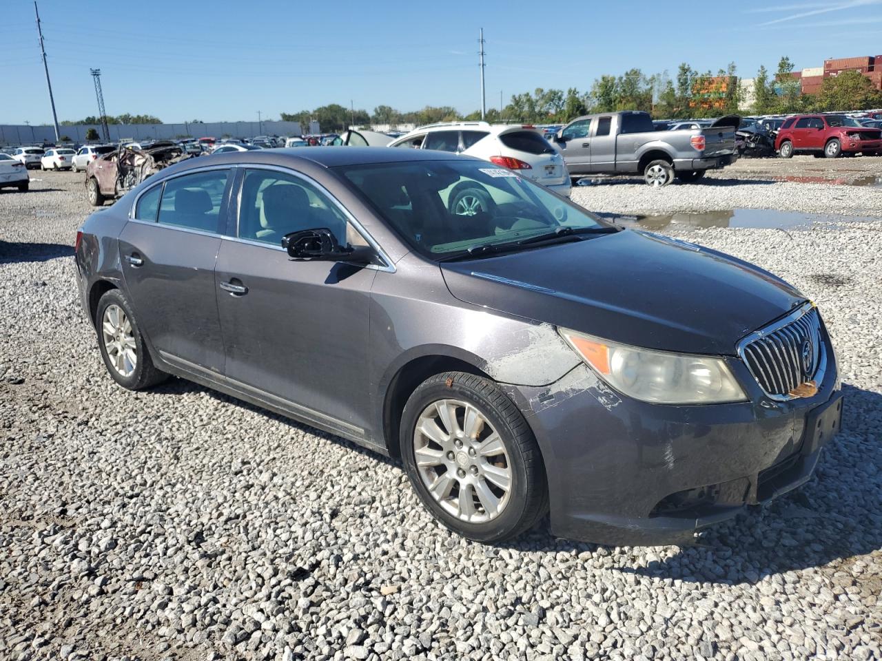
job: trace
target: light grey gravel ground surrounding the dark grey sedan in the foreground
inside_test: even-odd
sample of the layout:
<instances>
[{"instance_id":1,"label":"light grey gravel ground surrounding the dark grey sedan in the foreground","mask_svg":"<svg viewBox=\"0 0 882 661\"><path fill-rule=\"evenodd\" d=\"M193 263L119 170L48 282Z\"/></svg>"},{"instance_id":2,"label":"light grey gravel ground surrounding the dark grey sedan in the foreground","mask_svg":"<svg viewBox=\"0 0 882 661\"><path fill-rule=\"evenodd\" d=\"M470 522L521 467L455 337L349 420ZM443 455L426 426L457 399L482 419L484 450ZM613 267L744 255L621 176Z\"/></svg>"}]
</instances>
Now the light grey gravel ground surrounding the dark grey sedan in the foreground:
<instances>
[{"instance_id":1,"label":"light grey gravel ground surrounding the dark grey sedan in the foreground","mask_svg":"<svg viewBox=\"0 0 882 661\"><path fill-rule=\"evenodd\" d=\"M339 438L188 382L116 387L74 284L81 176L0 194L0 658L882 658L878 221L676 229L823 310L848 402L809 484L706 546L542 525L491 547Z\"/></svg>"}]
</instances>

